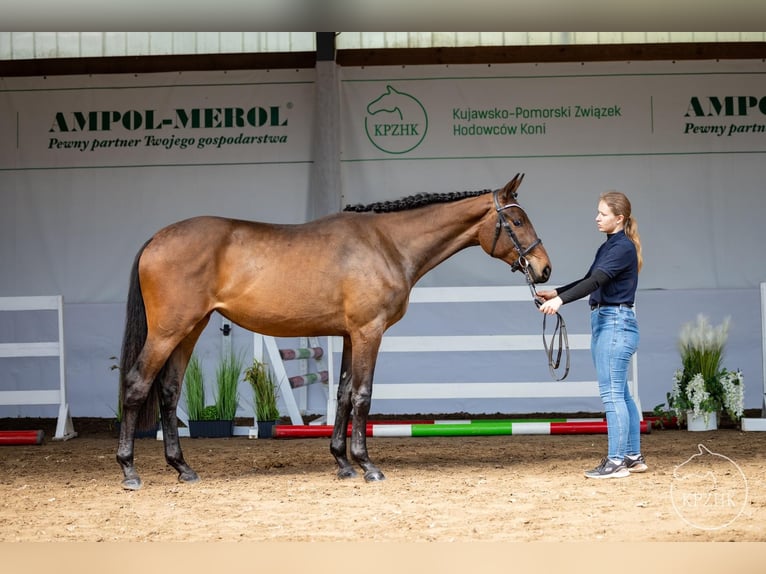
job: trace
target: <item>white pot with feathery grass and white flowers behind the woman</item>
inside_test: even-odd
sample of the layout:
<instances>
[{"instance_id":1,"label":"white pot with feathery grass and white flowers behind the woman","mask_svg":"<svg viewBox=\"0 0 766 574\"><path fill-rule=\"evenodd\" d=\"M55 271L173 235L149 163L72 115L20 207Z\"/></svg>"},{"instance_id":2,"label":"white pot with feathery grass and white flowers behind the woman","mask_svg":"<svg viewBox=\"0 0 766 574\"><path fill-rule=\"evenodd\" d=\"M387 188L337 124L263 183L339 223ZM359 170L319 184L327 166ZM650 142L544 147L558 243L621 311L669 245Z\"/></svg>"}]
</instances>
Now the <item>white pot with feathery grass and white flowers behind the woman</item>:
<instances>
[{"instance_id":1,"label":"white pot with feathery grass and white flowers behind the woman","mask_svg":"<svg viewBox=\"0 0 766 574\"><path fill-rule=\"evenodd\" d=\"M718 415L725 411L739 420L744 410L742 372L722 367L729 335L729 318L713 326L698 315L694 323L682 326L678 339L681 369L673 375L668 405L679 420L686 419L689 430L718 427Z\"/></svg>"}]
</instances>

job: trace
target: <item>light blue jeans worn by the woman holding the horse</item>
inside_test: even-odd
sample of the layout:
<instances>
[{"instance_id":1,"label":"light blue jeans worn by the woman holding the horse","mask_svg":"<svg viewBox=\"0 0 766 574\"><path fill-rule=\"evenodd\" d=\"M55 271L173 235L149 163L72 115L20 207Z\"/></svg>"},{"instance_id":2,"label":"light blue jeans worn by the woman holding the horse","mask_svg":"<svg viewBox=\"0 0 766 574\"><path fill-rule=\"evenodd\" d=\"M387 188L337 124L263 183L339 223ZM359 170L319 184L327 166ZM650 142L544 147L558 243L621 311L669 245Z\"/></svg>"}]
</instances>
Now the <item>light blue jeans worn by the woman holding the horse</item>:
<instances>
[{"instance_id":1,"label":"light blue jeans worn by the woman holding the horse","mask_svg":"<svg viewBox=\"0 0 766 574\"><path fill-rule=\"evenodd\" d=\"M638 348L633 309L599 307L591 311L591 355L606 413L609 458L622 460L641 452L641 414L630 395L628 370Z\"/></svg>"}]
</instances>

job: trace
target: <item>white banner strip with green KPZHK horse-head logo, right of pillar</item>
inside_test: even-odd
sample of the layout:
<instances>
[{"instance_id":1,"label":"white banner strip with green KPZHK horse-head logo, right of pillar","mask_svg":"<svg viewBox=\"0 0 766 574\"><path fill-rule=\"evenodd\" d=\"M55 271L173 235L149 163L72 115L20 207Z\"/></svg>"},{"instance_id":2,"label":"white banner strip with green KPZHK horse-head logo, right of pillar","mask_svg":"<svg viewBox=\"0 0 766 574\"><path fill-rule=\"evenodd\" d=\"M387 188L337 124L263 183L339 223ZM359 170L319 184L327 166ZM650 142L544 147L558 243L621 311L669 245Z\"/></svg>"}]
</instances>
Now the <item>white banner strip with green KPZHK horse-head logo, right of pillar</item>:
<instances>
[{"instance_id":1,"label":"white banner strip with green KPZHK horse-head logo, right of pillar","mask_svg":"<svg viewBox=\"0 0 766 574\"><path fill-rule=\"evenodd\" d=\"M766 152L759 62L343 70L345 161Z\"/></svg>"}]
</instances>

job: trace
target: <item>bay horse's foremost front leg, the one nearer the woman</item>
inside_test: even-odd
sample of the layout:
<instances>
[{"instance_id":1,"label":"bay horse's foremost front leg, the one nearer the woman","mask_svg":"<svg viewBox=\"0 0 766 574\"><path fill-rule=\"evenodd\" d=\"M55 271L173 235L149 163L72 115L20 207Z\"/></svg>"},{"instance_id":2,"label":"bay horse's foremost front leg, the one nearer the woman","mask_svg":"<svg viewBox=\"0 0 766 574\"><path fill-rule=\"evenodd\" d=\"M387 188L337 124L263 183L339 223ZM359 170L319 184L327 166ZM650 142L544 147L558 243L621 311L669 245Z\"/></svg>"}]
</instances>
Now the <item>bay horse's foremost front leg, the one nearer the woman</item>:
<instances>
[{"instance_id":1,"label":"bay horse's foremost front leg, the one nearer the woman","mask_svg":"<svg viewBox=\"0 0 766 574\"><path fill-rule=\"evenodd\" d=\"M367 417L370 414L372 379L381 337L382 334L377 338L368 338L364 346L356 344L352 358L351 456L364 469L364 480L367 482L385 480L386 478L380 469L370 461L367 453Z\"/></svg>"}]
</instances>

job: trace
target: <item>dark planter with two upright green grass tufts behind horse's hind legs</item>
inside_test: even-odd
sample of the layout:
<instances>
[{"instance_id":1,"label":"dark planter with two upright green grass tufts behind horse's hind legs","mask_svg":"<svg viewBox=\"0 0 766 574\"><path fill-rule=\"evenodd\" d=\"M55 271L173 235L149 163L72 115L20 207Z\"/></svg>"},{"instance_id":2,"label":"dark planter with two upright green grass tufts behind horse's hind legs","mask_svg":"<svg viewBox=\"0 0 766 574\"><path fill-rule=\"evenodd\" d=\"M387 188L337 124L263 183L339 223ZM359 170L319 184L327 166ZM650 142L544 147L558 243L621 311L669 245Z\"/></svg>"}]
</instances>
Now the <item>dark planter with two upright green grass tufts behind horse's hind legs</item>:
<instances>
[{"instance_id":1,"label":"dark planter with two upright green grass tufts behind horse's hind legs","mask_svg":"<svg viewBox=\"0 0 766 574\"><path fill-rule=\"evenodd\" d=\"M242 373L242 360L233 353L225 355L216 370L215 403L205 404L205 382L202 365L192 355L184 375L185 399L192 437L227 437L234 434L234 417L239 396L237 386Z\"/></svg>"}]
</instances>

